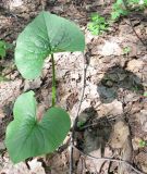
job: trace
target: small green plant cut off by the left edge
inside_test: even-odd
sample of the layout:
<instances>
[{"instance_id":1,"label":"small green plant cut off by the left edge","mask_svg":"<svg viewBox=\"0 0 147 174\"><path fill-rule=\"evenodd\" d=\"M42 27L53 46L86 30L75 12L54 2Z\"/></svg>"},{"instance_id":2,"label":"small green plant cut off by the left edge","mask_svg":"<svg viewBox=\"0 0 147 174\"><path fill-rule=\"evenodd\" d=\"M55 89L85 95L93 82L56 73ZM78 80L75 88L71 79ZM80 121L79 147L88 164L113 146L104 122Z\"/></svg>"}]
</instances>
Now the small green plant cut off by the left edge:
<instances>
[{"instance_id":1,"label":"small green plant cut off by the left edge","mask_svg":"<svg viewBox=\"0 0 147 174\"><path fill-rule=\"evenodd\" d=\"M7 55L7 50L11 49L12 46L4 40L0 40L0 58L4 58Z\"/></svg>"}]
</instances>

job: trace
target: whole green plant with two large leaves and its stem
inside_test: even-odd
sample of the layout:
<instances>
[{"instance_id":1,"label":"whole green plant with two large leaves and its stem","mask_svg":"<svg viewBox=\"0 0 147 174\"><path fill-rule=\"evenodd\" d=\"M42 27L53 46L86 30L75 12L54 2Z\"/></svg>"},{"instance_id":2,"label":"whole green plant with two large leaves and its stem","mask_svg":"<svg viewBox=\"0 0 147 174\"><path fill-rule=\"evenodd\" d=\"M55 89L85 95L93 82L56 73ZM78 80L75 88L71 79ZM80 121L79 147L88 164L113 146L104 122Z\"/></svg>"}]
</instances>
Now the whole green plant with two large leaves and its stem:
<instances>
[{"instance_id":1,"label":"whole green plant with two large leaves and its stem","mask_svg":"<svg viewBox=\"0 0 147 174\"><path fill-rule=\"evenodd\" d=\"M5 146L13 163L29 157L53 152L64 140L71 127L70 115L56 105L54 53L84 51L85 37L72 22L51 14L40 14L19 35L15 64L26 79L41 75L44 61L52 62L52 107L41 120L37 119L34 91L22 94L13 108L14 120L8 125Z\"/></svg>"}]
</instances>

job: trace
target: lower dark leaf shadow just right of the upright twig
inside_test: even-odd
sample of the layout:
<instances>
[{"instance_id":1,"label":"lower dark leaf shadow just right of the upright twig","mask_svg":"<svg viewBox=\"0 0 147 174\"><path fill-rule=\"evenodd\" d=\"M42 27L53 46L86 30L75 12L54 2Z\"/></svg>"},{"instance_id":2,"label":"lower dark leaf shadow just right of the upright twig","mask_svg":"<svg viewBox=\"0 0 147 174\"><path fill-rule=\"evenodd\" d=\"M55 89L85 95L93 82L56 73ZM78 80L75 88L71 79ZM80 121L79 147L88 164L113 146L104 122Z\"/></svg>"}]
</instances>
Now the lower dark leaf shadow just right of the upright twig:
<instances>
[{"instance_id":1,"label":"lower dark leaf shadow just right of the upright twig","mask_svg":"<svg viewBox=\"0 0 147 174\"><path fill-rule=\"evenodd\" d=\"M105 148L110 139L112 125L106 116L99 117L94 108L85 109L78 116L78 122L84 123L77 129L77 148L85 153L100 150L105 154Z\"/></svg>"}]
</instances>

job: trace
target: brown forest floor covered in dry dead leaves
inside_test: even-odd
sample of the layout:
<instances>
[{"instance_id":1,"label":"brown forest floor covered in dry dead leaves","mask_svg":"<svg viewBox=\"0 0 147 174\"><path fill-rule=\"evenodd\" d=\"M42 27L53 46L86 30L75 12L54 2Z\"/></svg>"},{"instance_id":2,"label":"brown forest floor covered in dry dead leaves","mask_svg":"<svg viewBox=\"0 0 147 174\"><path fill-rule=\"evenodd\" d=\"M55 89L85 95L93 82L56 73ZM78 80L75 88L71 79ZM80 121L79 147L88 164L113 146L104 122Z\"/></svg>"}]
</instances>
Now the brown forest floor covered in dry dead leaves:
<instances>
[{"instance_id":1,"label":"brown forest floor covered in dry dead leaves","mask_svg":"<svg viewBox=\"0 0 147 174\"><path fill-rule=\"evenodd\" d=\"M147 173L147 12L135 12L113 23L109 30L93 36L87 29L91 12L109 17L112 0L1 0L0 39L15 44L19 33L41 10L70 18L85 34L86 86L75 130L74 174ZM142 38L143 42L137 35ZM131 51L124 53L124 48ZM13 165L4 146L7 125L20 94L34 90L39 105L51 105L51 62L41 77L23 79L14 65L14 52L0 60L0 174L68 174L70 134L53 154ZM86 65L86 64L85 64ZM83 54L56 54L58 105L74 122L83 90ZM146 142L145 146L142 144ZM111 160L113 159L113 160ZM117 160L114 160L117 159ZM119 162L120 160L120 162ZM130 165L130 164L131 165Z\"/></svg>"}]
</instances>

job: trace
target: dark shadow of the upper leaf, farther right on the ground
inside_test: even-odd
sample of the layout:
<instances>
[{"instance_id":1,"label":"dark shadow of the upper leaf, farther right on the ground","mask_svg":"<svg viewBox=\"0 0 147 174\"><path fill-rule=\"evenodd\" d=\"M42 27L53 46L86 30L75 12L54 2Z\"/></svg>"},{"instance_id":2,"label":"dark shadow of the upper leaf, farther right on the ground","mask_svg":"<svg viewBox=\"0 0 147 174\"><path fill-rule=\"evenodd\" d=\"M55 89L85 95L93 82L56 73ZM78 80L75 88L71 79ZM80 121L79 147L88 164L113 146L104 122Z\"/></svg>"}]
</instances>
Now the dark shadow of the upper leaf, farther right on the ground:
<instances>
[{"instance_id":1,"label":"dark shadow of the upper leaf, farther right on the ground","mask_svg":"<svg viewBox=\"0 0 147 174\"><path fill-rule=\"evenodd\" d=\"M130 90L140 96L144 94L142 79L121 66L109 69L98 84L97 90L102 103L110 103L118 99L119 90Z\"/></svg>"}]
</instances>

